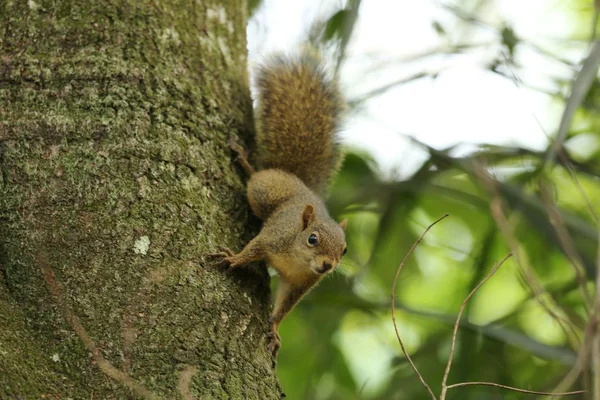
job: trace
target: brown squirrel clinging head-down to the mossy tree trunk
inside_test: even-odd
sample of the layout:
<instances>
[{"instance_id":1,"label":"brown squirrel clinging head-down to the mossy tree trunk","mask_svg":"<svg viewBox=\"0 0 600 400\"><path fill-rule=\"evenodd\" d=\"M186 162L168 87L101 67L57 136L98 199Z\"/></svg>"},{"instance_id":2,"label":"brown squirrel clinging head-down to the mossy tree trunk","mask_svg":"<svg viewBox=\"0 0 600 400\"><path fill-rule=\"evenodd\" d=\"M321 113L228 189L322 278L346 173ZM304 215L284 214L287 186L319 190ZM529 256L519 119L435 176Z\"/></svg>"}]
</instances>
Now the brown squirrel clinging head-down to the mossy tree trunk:
<instances>
[{"instance_id":1,"label":"brown squirrel clinging head-down to the mossy tree trunk","mask_svg":"<svg viewBox=\"0 0 600 400\"><path fill-rule=\"evenodd\" d=\"M337 135L344 102L314 53L272 56L258 68L256 84L259 171L237 142L229 145L250 175L248 201L263 226L238 254L222 248L213 255L230 268L266 260L278 272L267 336L276 357L282 319L346 253L347 220L335 222L323 201L342 161Z\"/></svg>"}]
</instances>

